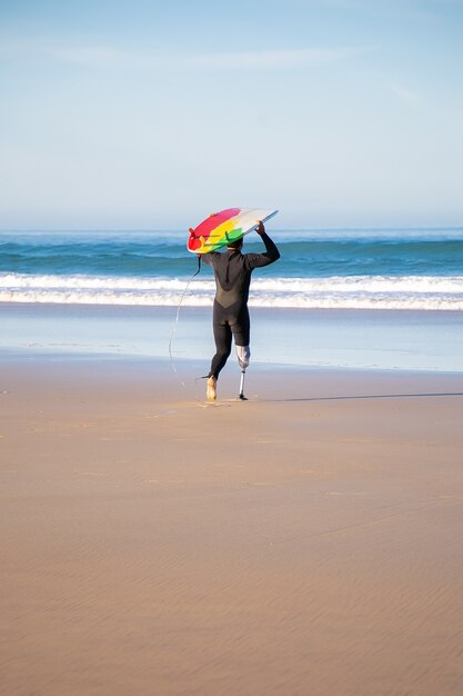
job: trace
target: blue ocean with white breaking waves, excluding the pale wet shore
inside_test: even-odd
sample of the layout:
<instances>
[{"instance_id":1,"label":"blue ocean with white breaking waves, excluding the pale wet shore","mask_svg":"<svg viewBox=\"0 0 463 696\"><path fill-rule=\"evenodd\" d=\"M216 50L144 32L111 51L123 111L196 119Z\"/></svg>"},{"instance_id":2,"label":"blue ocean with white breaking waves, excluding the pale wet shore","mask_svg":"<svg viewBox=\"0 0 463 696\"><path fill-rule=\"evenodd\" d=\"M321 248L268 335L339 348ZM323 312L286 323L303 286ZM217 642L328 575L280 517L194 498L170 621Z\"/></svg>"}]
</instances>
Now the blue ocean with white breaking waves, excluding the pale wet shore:
<instances>
[{"instance_id":1,"label":"blue ocean with white breaking waves, excluding the pale wet shore","mask_svg":"<svg viewBox=\"0 0 463 696\"><path fill-rule=\"evenodd\" d=\"M463 228L272 230L281 259L253 274L251 307L463 310ZM212 305L184 231L0 232L0 301ZM245 251L263 246L256 235Z\"/></svg>"}]
</instances>

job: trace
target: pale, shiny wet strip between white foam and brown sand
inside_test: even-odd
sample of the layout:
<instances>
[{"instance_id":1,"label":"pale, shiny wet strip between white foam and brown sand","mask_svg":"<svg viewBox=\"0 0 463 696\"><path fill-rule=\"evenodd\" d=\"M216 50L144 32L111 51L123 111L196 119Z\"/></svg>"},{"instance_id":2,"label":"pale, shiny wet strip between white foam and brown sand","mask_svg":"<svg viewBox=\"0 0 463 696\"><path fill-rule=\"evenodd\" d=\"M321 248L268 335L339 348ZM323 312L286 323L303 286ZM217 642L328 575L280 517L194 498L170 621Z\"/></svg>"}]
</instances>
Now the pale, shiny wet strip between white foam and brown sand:
<instances>
[{"instance_id":1,"label":"pale, shiny wet strip between white foam and brown sand","mask_svg":"<svg viewBox=\"0 0 463 696\"><path fill-rule=\"evenodd\" d=\"M462 312L251 308L251 365L463 372ZM213 352L209 308L0 304L3 351L191 359ZM232 354L232 358L234 356Z\"/></svg>"}]
</instances>

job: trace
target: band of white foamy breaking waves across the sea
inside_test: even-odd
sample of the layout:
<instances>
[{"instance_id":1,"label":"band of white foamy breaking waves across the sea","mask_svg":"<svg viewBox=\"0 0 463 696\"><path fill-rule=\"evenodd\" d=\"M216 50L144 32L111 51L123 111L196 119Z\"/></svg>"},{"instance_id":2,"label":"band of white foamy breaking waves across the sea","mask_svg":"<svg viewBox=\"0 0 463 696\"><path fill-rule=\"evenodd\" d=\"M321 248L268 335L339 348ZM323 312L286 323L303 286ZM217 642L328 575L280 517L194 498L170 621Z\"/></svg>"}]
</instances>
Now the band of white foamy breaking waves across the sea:
<instances>
[{"instance_id":1,"label":"band of white foamy breaking waves across the sea","mask_svg":"<svg viewBox=\"0 0 463 696\"><path fill-rule=\"evenodd\" d=\"M0 301L76 305L210 306L211 277L181 278L0 275ZM184 296L183 296L184 294ZM463 310L463 277L353 276L253 278L253 307Z\"/></svg>"}]
</instances>

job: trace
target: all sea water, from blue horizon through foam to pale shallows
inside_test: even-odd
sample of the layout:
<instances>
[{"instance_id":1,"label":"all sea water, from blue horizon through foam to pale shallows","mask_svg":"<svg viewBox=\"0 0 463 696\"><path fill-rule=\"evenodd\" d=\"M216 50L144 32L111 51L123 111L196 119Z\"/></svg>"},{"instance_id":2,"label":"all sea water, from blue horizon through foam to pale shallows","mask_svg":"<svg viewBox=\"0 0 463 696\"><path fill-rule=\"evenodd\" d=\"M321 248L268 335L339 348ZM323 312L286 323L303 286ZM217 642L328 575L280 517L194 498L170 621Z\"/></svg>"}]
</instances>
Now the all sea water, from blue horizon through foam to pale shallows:
<instances>
[{"instance_id":1,"label":"all sea water, from blue horizon through foam to pale shallows","mask_svg":"<svg viewBox=\"0 0 463 696\"><path fill-rule=\"evenodd\" d=\"M252 365L463 371L463 229L271 230ZM0 348L198 359L211 269L181 231L0 232ZM244 252L262 251L256 235ZM34 309L36 308L36 309ZM40 308L40 311L38 309Z\"/></svg>"}]
</instances>

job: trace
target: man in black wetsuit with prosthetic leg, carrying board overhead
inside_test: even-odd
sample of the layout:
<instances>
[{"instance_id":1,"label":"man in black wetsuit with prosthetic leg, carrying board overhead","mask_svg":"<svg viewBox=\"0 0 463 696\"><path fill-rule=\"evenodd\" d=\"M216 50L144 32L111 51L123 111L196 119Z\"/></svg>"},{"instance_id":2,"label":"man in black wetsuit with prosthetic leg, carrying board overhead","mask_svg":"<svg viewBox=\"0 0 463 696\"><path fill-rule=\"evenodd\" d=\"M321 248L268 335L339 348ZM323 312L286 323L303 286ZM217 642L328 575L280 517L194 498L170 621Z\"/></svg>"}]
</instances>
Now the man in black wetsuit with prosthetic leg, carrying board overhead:
<instances>
[{"instance_id":1,"label":"man in black wetsuit with prosthetic leg, carrying board overhead","mask_svg":"<svg viewBox=\"0 0 463 696\"><path fill-rule=\"evenodd\" d=\"M213 331L215 355L208 375L208 401L217 398L217 380L231 352L232 338L236 347L238 361L242 370L249 365L250 319L248 311L249 286L254 268L269 266L280 258L262 222L256 228L265 245L264 253L241 253L243 238L233 241L227 251L211 251L202 259L212 266L215 277L215 298L213 308Z\"/></svg>"}]
</instances>

